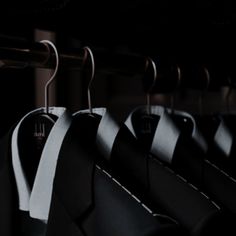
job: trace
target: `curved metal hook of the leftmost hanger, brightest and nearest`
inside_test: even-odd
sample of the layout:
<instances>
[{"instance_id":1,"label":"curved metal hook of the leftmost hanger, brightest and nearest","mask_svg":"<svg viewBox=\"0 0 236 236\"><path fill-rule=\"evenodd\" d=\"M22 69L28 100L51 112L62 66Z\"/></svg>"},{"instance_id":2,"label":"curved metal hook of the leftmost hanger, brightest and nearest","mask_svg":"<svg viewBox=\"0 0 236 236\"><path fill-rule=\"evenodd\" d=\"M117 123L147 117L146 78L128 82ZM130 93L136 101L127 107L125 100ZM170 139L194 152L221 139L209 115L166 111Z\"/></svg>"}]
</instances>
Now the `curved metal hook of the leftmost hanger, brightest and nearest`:
<instances>
[{"instance_id":1,"label":"curved metal hook of the leftmost hanger, brightest and nearest","mask_svg":"<svg viewBox=\"0 0 236 236\"><path fill-rule=\"evenodd\" d=\"M57 74L57 71L58 71L59 55L58 55L58 51L57 51L56 46L50 40L41 40L40 43L43 43L48 48L49 53L50 53L50 48L49 48L48 45L50 45L53 48L54 53L55 53L55 57L56 57L56 66L55 66L54 72L53 72L51 78L47 81L47 83L46 83L46 85L44 87L45 109L46 109L46 113L49 113L49 86L51 85L51 83L54 80L54 78L55 78L55 76Z\"/></svg>"}]
</instances>

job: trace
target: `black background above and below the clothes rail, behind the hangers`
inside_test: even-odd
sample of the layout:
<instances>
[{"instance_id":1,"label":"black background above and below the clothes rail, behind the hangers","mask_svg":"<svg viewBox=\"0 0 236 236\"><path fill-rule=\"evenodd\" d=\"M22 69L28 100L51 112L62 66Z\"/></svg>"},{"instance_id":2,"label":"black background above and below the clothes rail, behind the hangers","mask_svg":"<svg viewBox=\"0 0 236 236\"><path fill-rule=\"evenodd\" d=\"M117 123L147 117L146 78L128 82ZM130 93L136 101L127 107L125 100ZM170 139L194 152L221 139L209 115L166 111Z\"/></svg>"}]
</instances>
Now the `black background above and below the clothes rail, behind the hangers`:
<instances>
[{"instance_id":1,"label":"black background above and below the clothes rail, behind the hangers","mask_svg":"<svg viewBox=\"0 0 236 236\"><path fill-rule=\"evenodd\" d=\"M232 0L8 0L1 2L0 20L0 41L10 37L30 42L35 29L49 30L56 32L57 45L62 49L90 45L153 58L158 55L188 68L193 64L207 66L212 81L235 78L236 8ZM72 101L71 73L61 71L62 77L68 79L59 80L57 100L59 105L76 110L86 107L86 90L78 88L82 98ZM32 68L0 69L4 114L1 134L34 107L33 75ZM140 81L136 83L137 80L135 76L100 75L94 82L94 106L110 106L121 118L131 104L143 101L143 98L140 100L142 85ZM134 90L137 93L132 95ZM184 104L190 101L186 96L180 96ZM194 96L191 93L191 97ZM219 98L219 94L217 96ZM218 103L215 97L212 100ZM194 104L198 106L197 101ZM209 106L217 105L210 102ZM118 106L126 108L121 111ZM191 109L193 106L193 103L188 105Z\"/></svg>"}]
</instances>

